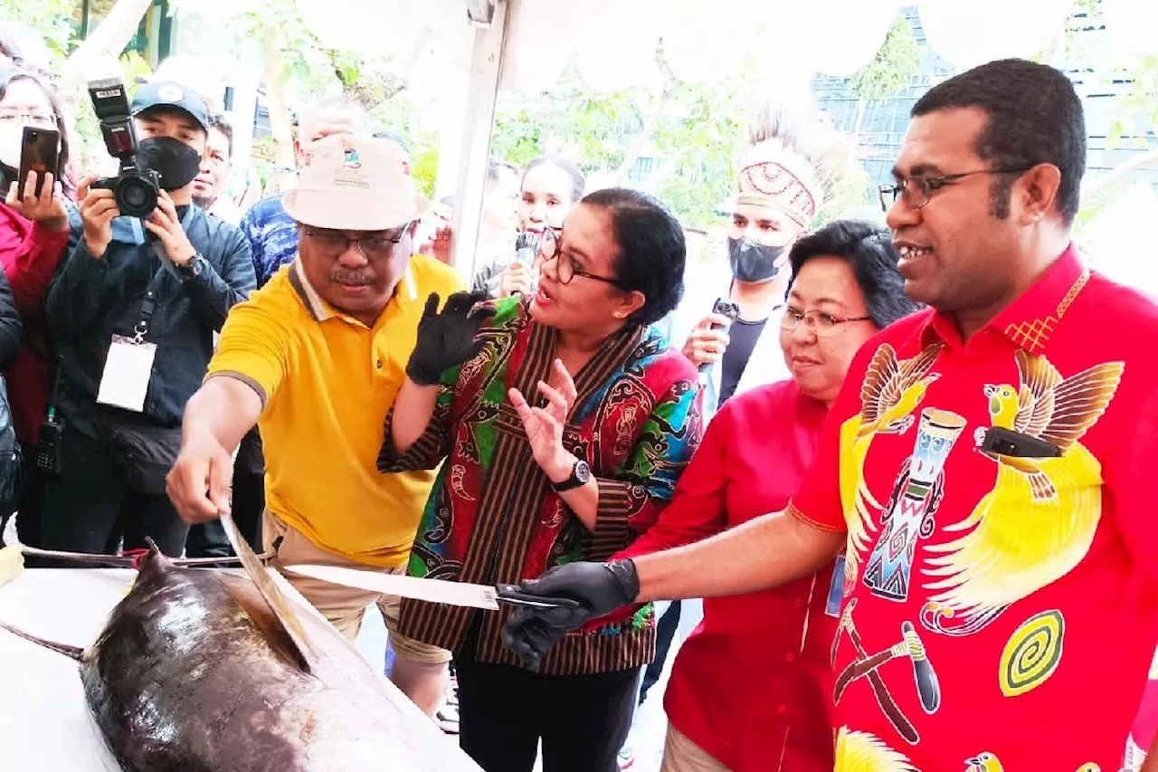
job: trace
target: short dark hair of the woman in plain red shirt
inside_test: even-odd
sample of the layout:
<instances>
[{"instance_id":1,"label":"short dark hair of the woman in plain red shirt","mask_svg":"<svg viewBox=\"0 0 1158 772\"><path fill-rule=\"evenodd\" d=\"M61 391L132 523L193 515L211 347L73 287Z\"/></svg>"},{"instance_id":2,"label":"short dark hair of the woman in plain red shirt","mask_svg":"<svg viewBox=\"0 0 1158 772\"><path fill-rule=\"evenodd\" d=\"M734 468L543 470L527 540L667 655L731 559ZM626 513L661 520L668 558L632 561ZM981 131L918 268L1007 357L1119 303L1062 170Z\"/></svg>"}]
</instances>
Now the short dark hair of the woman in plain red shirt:
<instances>
[{"instance_id":1,"label":"short dark hair of the woman in plain red shirt","mask_svg":"<svg viewBox=\"0 0 1158 772\"><path fill-rule=\"evenodd\" d=\"M828 255L842 257L852 267L857 284L865 293L868 315L879 329L921 307L904 293L904 278L896 269L900 255L893 246L893 234L865 220L833 220L792 245L789 290L809 260Z\"/></svg>"}]
</instances>

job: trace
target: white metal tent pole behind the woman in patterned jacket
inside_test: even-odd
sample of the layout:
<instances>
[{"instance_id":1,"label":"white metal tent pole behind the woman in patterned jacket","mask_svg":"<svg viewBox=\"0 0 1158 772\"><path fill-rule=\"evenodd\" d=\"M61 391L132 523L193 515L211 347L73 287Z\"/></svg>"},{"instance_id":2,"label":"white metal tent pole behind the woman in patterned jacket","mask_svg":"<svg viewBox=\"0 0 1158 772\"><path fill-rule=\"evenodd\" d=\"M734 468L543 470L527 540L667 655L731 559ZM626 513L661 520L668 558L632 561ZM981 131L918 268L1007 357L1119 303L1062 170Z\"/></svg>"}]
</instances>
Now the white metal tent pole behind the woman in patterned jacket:
<instances>
[{"instance_id":1,"label":"white metal tent pole behind the woman in patterned jacket","mask_svg":"<svg viewBox=\"0 0 1158 772\"><path fill-rule=\"evenodd\" d=\"M503 71L507 21L519 0L498 0L493 21L475 31L470 64L470 86L463 118L462 152L454 205L454 246L452 260L467 278L474 276L478 223L486 190L486 167L490 163L491 130L494 125L494 100Z\"/></svg>"}]
</instances>

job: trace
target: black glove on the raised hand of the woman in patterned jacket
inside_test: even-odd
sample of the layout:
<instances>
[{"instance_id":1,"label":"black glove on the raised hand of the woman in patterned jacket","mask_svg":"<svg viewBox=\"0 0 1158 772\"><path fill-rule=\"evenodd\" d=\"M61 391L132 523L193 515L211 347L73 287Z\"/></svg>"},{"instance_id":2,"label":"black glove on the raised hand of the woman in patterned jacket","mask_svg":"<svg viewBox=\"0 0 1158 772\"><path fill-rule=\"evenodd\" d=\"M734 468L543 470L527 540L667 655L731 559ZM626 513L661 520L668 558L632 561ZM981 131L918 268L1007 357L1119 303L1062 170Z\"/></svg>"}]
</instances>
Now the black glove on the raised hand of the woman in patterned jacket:
<instances>
[{"instance_id":1,"label":"black glove on the raised hand of the woman in patterned jacket","mask_svg":"<svg viewBox=\"0 0 1158 772\"><path fill-rule=\"evenodd\" d=\"M433 386L448 367L472 359L483 348L475 335L483 321L494 315L492 306L475 308L486 300L485 292L455 292L438 311L438 292L426 298L418 321L418 342L406 363L406 374L419 386Z\"/></svg>"}]
</instances>

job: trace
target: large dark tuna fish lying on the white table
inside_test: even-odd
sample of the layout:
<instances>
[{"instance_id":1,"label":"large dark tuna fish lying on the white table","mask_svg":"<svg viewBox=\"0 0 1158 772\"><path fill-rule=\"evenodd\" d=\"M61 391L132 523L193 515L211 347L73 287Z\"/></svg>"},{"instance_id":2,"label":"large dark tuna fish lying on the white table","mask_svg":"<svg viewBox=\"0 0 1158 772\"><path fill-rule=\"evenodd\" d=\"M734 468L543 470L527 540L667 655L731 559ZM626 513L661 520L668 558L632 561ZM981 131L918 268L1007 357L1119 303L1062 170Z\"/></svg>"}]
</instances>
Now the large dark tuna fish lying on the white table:
<instances>
[{"instance_id":1,"label":"large dark tuna fish lying on the white table","mask_svg":"<svg viewBox=\"0 0 1158 772\"><path fill-rule=\"evenodd\" d=\"M413 731L426 727L411 706L332 626L298 619L308 662L249 578L179 568L153 547L87 649L5 627L80 662L126 772L477 770L433 724Z\"/></svg>"}]
</instances>

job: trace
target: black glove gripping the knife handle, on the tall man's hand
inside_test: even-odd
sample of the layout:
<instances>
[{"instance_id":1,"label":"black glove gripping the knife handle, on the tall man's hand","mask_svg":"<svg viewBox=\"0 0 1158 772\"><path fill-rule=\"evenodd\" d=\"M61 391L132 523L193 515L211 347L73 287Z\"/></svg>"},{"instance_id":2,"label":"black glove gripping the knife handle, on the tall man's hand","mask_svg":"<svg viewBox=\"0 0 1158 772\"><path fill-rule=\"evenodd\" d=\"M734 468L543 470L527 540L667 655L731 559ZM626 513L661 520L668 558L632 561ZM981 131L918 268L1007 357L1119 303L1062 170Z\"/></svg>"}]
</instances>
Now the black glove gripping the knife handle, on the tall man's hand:
<instances>
[{"instance_id":1,"label":"black glove gripping the knife handle, on the tall man's hand","mask_svg":"<svg viewBox=\"0 0 1158 772\"><path fill-rule=\"evenodd\" d=\"M639 596L639 576L630 560L557 566L519 589L542 597L571 598L578 609L519 606L503 627L503 643L532 670L571 631L608 614Z\"/></svg>"}]
</instances>

